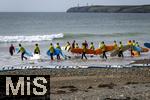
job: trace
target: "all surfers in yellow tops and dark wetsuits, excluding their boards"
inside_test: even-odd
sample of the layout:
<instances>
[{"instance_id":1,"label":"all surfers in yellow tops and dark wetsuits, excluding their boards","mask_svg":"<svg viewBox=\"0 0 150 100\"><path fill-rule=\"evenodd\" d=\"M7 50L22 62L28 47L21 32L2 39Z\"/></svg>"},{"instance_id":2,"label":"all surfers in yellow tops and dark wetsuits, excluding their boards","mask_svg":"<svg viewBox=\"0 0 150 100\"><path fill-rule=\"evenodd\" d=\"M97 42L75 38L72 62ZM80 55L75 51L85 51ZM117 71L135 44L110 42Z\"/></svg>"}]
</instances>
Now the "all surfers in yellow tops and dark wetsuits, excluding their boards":
<instances>
[{"instance_id":1,"label":"all surfers in yellow tops and dark wetsuits, excluding their boards","mask_svg":"<svg viewBox=\"0 0 150 100\"><path fill-rule=\"evenodd\" d=\"M138 44L138 42L135 42L135 40L133 40L133 41L129 40L127 44L130 46L131 56L133 56L133 46L139 47L139 44ZM119 45L118 45L117 42L114 41L113 46L114 46L115 49L119 49L118 57L122 57L123 58L124 55L123 55L123 44L122 44L122 42L120 41ZM59 45L59 43L56 44L55 48L61 50L61 46ZM54 56L55 48L54 48L53 44L50 43L49 51L50 51L50 58L51 58L51 60L54 59L53 56ZM73 41L72 45L70 44L70 42L67 42L67 44L65 46L65 50L67 50L68 52L71 51L71 49L75 49L75 48L79 48L79 45L78 45L78 43L76 43L75 40ZM102 58L103 59L107 59L107 55L106 55L107 51L106 51L106 45L105 45L104 41L102 41L99 44L99 48L102 50ZM88 43L85 40L82 43L82 49L83 50L82 50L82 57L81 57L81 59L83 59L83 58L87 59L86 51L87 51L87 49L95 50L94 43L91 42L90 46L88 46ZM15 47L13 46L13 44L11 44L11 46L9 48L9 52L10 52L11 56L15 52ZM26 52L25 48L21 44L19 44L19 50L18 50L17 53L19 53L19 52L21 52L21 60L23 60L23 59L27 60L27 57L24 56L25 52ZM35 44L34 54L40 54L40 48L39 48L38 44ZM139 52L139 54L140 54L140 52ZM60 55L59 54L57 54L57 60L60 60Z\"/></svg>"}]
</instances>

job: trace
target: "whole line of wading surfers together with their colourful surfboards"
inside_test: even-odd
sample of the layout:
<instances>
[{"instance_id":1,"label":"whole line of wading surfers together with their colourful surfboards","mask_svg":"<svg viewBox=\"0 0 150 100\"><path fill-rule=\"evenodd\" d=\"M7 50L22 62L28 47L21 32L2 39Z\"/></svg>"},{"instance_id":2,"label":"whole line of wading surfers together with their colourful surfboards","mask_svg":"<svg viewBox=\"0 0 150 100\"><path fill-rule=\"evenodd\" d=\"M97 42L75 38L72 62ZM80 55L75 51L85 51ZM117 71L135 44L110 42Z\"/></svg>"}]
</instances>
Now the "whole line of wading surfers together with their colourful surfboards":
<instances>
[{"instance_id":1,"label":"whole line of wading surfers together with their colourful surfboards","mask_svg":"<svg viewBox=\"0 0 150 100\"><path fill-rule=\"evenodd\" d=\"M88 42L85 40L82 43L82 47L79 47L78 43L74 40L71 44L70 42L67 42L67 44L64 47L61 47L59 43L56 44L56 47L53 46L52 43L50 43L49 49L47 51L47 55L50 56L51 60L54 60L54 56L57 57L57 60L60 60L60 55L67 59L67 56L63 54L63 50L66 50L68 52L71 52L73 54L82 54L81 59L87 59L87 54L93 54L93 55L101 55L103 59L107 59L106 52L111 52L110 56L118 56L118 57L124 57L123 52L129 50L131 53L131 57L134 56L140 56L142 52L148 52L150 43L144 43L144 47L140 47L139 43L135 40L129 40L126 45L123 45L123 43L120 41L119 44L117 44L116 41L113 42L112 45L106 45L104 41L100 42L99 48L95 49L94 43L91 42L90 46L88 45ZM63 50L62 50L63 49ZM9 47L9 53L11 56L17 52L21 53L21 60L28 59L27 56L33 56L32 53L28 52L22 44L19 44L19 48L15 48L13 44ZM40 55L40 47L36 43L34 48L34 55L38 54ZM69 56L68 56L69 57Z\"/></svg>"}]
</instances>

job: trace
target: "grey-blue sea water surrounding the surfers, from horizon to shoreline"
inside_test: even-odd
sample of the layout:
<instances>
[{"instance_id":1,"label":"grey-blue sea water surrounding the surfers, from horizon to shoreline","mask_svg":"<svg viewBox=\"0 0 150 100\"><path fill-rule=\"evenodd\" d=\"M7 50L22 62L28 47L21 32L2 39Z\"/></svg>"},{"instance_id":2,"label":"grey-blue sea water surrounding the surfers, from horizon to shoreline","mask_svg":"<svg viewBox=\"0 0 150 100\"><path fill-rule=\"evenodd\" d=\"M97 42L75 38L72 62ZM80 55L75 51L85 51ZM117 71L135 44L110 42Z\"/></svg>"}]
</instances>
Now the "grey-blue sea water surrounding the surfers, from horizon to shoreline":
<instances>
[{"instance_id":1,"label":"grey-blue sea water surrounding the surfers, from horizon to shoreline","mask_svg":"<svg viewBox=\"0 0 150 100\"><path fill-rule=\"evenodd\" d=\"M49 44L57 42L64 46L67 41L76 40L81 46L85 40L94 42L97 48L99 42L112 44L114 40L136 40L141 46L150 38L149 13L0 13L0 66L10 65L95 65L128 64L135 59L149 58L149 53L139 58L130 58L125 52L125 58L109 58L102 60L99 56L89 57L88 61L71 59L51 62L46 55ZM10 57L8 49L13 43L19 43L33 52L34 44L39 43L42 59L38 61L21 61L20 55ZM74 56L64 52L66 55ZM109 55L109 53L107 54Z\"/></svg>"}]
</instances>

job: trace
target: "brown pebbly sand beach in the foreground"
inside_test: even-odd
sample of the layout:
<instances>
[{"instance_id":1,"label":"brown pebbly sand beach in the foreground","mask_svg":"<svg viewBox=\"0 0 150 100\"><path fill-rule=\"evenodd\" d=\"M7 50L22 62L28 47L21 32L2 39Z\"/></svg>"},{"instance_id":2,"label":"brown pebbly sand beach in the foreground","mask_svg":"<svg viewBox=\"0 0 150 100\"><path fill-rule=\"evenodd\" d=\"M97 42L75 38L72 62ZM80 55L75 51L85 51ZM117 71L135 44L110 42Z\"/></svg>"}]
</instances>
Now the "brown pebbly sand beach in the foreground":
<instances>
[{"instance_id":1,"label":"brown pebbly sand beach in the foreground","mask_svg":"<svg viewBox=\"0 0 150 100\"><path fill-rule=\"evenodd\" d=\"M150 100L150 68L24 69L0 75L50 75L51 100Z\"/></svg>"}]
</instances>

